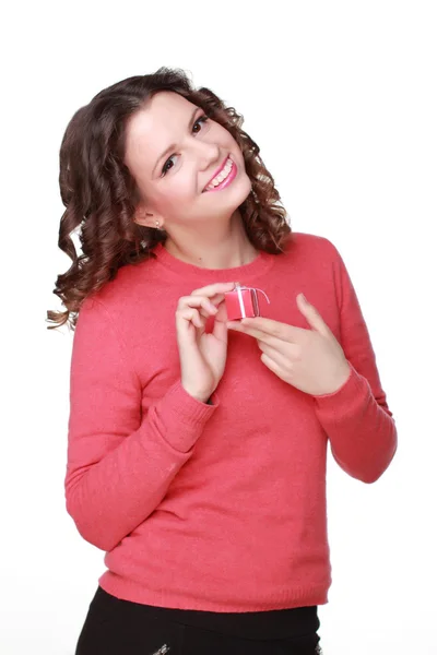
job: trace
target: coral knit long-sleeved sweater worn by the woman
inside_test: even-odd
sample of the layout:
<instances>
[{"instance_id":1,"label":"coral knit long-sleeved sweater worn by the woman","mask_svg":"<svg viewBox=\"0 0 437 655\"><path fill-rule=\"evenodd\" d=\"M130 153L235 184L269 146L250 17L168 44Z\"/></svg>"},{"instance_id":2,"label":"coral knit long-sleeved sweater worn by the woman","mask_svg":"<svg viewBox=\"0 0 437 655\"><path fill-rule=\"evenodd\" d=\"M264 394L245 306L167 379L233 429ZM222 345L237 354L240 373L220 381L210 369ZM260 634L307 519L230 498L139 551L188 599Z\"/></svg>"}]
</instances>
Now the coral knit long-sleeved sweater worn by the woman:
<instances>
[{"instance_id":1,"label":"coral knit long-sleeved sweater worn by the woman","mask_svg":"<svg viewBox=\"0 0 437 655\"><path fill-rule=\"evenodd\" d=\"M284 253L227 270L188 264L162 245L154 252L85 300L74 333L66 500L82 537L106 551L98 582L119 598L181 609L326 604L328 443L364 483L397 449L343 260L304 233ZM262 364L253 337L229 331L212 405L185 391L177 301L237 281L268 295L270 305L259 294L262 315L309 329L296 305L305 294L349 360L340 390L295 389Z\"/></svg>"}]
</instances>

